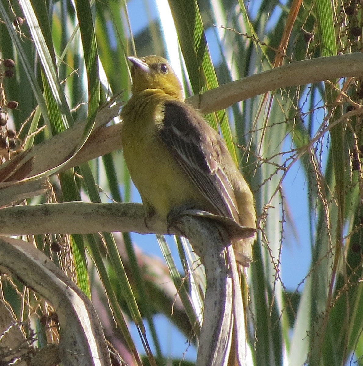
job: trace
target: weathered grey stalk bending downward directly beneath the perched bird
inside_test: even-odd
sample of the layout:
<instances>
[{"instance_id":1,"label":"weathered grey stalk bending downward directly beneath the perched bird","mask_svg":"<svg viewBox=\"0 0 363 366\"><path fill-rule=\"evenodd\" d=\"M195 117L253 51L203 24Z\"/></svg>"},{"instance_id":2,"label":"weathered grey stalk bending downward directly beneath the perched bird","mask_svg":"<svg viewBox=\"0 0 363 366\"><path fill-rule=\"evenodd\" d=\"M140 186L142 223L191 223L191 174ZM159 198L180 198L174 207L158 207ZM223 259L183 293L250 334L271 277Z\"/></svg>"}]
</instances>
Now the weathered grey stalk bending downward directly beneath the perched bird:
<instances>
[{"instance_id":1,"label":"weathered grey stalk bending downward directly beneath the perched bird","mask_svg":"<svg viewBox=\"0 0 363 366\"><path fill-rule=\"evenodd\" d=\"M184 216L178 226L203 258L207 280L196 365L225 366L233 360L244 366L247 339L242 291L228 235L218 224L200 217Z\"/></svg>"}]
</instances>

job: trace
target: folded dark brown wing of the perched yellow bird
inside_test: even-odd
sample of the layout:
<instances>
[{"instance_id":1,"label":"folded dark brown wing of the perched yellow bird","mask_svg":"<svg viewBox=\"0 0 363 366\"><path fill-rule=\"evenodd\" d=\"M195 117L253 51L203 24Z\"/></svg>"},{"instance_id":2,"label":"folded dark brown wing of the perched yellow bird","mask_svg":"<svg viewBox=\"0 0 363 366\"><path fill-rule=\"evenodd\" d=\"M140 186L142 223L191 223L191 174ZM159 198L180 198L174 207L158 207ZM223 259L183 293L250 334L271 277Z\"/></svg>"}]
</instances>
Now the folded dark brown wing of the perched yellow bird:
<instances>
[{"instance_id":1,"label":"folded dark brown wing of the perched yellow bird","mask_svg":"<svg viewBox=\"0 0 363 366\"><path fill-rule=\"evenodd\" d=\"M233 187L222 166L229 153L218 133L194 109L176 100L164 102L164 119L157 127L161 140L217 214L239 222Z\"/></svg>"}]
</instances>

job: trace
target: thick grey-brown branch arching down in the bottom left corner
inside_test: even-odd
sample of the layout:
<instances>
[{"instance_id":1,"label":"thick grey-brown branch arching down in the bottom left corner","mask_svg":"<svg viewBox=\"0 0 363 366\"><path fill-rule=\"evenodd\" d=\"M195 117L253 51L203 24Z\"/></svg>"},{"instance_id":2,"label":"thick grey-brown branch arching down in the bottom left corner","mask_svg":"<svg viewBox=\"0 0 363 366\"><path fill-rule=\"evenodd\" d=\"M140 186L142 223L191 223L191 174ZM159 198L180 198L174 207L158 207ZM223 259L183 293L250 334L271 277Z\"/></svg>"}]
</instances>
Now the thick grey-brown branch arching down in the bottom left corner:
<instances>
[{"instance_id":1,"label":"thick grey-brown branch arching down in the bottom left corner","mask_svg":"<svg viewBox=\"0 0 363 366\"><path fill-rule=\"evenodd\" d=\"M57 347L64 365L111 366L105 336L90 300L40 250L28 242L0 238L0 265L56 309L62 328Z\"/></svg>"}]
</instances>

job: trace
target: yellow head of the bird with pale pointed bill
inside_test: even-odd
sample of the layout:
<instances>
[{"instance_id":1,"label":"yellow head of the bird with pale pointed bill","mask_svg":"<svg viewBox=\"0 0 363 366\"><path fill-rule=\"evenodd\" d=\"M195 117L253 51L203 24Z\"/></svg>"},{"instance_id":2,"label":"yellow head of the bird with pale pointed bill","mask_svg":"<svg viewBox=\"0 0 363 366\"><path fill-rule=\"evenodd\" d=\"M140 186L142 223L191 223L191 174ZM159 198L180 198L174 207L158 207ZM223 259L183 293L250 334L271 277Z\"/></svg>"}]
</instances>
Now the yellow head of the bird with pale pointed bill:
<instances>
[{"instance_id":1,"label":"yellow head of the bird with pale pointed bill","mask_svg":"<svg viewBox=\"0 0 363 366\"><path fill-rule=\"evenodd\" d=\"M166 94L184 101L182 85L167 60L154 55L128 59L132 62L132 94L146 89L161 89Z\"/></svg>"}]
</instances>

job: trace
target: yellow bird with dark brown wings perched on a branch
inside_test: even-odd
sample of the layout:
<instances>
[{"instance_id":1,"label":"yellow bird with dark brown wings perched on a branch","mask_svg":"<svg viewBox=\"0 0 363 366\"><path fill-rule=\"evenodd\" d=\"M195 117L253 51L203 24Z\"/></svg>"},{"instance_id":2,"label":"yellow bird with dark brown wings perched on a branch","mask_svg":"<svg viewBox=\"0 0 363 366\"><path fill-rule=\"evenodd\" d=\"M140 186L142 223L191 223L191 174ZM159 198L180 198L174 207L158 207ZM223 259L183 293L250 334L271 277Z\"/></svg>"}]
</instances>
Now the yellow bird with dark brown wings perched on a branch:
<instances>
[{"instance_id":1,"label":"yellow bird with dark brown wings perched on a branch","mask_svg":"<svg viewBox=\"0 0 363 366\"><path fill-rule=\"evenodd\" d=\"M170 221L186 209L204 210L256 228L254 197L222 137L184 102L183 88L160 56L128 57L132 96L121 110L126 166L145 218ZM255 236L232 242L248 267Z\"/></svg>"}]
</instances>

